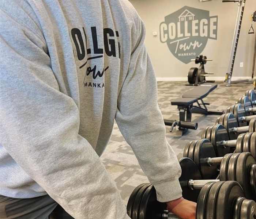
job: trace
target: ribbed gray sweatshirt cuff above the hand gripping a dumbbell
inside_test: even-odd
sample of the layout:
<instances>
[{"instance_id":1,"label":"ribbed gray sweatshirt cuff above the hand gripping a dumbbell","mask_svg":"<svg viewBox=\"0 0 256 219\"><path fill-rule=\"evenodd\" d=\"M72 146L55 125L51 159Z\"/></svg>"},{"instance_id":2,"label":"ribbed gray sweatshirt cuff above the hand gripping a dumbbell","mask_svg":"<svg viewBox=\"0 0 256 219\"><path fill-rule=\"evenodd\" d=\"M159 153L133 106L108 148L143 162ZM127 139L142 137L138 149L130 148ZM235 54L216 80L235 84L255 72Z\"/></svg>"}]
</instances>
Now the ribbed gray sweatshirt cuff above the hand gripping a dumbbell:
<instances>
[{"instance_id":1,"label":"ribbed gray sweatshirt cuff above the hand gripping a dumbbell","mask_svg":"<svg viewBox=\"0 0 256 219\"><path fill-rule=\"evenodd\" d=\"M157 191L157 200L159 202L169 202L182 197L182 189L178 177L154 183L155 190Z\"/></svg>"}]
</instances>

